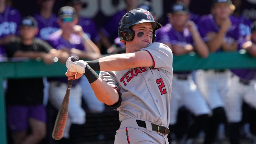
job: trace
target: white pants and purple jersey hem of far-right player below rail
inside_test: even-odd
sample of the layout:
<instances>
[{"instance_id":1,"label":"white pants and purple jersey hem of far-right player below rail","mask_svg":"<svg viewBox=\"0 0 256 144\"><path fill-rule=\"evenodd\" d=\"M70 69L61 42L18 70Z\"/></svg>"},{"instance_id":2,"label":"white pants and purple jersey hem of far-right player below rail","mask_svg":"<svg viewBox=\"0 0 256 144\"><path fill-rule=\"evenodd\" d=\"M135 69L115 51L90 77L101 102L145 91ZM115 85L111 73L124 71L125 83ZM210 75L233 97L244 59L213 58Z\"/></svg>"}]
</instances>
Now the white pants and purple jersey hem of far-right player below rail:
<instances>
[{"instance_id":1,"label":"white pants and purple jersey hem of far-right player below rail","mask_svg":"<svg viewBox=\"0 0 256 144\"><path fill-rule=\"evenodd\" d=\"M226 113L231 123L241 122L242 103L256 109L256 69L234 69L229 80Z\"/></svg>"}]
</instances>

